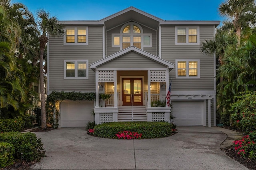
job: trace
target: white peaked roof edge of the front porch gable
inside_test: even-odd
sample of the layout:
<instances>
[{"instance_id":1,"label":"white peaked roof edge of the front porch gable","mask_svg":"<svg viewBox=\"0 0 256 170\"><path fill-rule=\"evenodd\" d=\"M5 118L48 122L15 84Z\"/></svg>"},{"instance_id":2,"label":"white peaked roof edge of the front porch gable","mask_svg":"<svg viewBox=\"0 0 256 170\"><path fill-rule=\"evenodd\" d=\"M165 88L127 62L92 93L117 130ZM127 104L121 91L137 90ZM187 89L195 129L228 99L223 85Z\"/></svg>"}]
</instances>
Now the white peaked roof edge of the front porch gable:
<instances>
[{"instance_id":1,"label":"white peaked roof edge of the front porch gable","mask_svg":"<svg viewBox=\"0 0 256 170\"><path fill-rule=\"evenodd\" d=\"M118 51L117 53L114 53L108 57L105 57L104 59L96 61L95 63L90 64L90 68L95 71L98 66L102 66L103 64L108 63L114 59L117 59L118 57L121 57L127 53L132 52L132 51L135 53L138 53L139 55L144 56L148 59L151 59L152 61L154 61L156 63L160 63L160 64L166 66L166 68L168 68L169 70L172 70L172 68L174 68L173 63L170 63L164 59L161 59L160 57L156 57L155 55L152 55L152 54L150 54L146 51L143 51L141 49L138 49L137 47L134 47L134 46L128 47L128 48Z\"/></svg>"}]
</instances>

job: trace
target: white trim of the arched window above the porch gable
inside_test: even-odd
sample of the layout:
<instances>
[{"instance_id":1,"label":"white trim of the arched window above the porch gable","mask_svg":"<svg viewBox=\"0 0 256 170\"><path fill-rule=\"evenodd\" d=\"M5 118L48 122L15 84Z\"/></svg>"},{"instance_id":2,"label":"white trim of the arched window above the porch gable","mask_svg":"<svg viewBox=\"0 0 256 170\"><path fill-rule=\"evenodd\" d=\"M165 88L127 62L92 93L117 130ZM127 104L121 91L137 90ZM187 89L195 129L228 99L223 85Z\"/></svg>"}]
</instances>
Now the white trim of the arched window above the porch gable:
<instances>
[{"instance_id":1,"label":"white trim of the arched window above the porch gable","mask_svg":"<svg viewBox=\"0 0 256 170\"><path fill-rule=\"evenodd\" d=\"M122 33L123 29L127 26L127 25L136 25L140 28L140 32L141 33L133 33L133 28L131 27L131 32L130 33ZM114 45L114 36L119 36L120 38L120 42L119 42L119 45ZM132 46L133 45L133 37L134 36L140 36L141 37L141 49L143 50L144 47L152 47L152 34L151 33L143 33L143 29L142 27L138 24L138 23L135 23L135 22L129 22L129 23L126 23L122 26L122 28L120 29L120 33L112 33L111 35L111 42L112 42L112 47L120 47L120 50L122 50L123 48L123 45L122 45L122 40L123 40L123 36L130 36L130 45ZM144 36L149 36L150 37L150 45L144 45Z\"/></svg>"}]
</instances>

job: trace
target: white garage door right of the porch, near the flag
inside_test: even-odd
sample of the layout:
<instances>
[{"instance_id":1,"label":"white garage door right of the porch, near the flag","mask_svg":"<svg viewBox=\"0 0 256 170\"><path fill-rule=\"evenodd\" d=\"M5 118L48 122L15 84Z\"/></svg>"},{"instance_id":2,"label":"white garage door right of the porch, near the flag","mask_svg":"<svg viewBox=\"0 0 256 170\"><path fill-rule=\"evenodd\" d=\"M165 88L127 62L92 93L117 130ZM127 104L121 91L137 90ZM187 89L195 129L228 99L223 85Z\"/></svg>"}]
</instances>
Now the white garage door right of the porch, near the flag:
<instances>
[{"instance_id":1,"label":"white garage door right of the porch, near the flag","mask_svg":"<svg viewBox=\"0 0 256 170\"><path fill-rule=\"evenodd\" d=\"M172 101L171 113L177 126L203 125L203 101Z\"/></svg>"}]
</instances>

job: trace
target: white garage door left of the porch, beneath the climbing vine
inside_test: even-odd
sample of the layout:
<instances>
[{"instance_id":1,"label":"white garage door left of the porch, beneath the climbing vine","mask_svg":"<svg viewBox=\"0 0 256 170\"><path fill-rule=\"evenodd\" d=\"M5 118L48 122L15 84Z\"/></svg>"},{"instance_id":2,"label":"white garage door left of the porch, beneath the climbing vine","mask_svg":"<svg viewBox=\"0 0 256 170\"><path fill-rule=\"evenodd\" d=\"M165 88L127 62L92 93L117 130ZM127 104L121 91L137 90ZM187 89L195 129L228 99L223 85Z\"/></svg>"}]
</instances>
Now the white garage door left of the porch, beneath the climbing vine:
<instances>
[{"instance_id":1,"label":"white garage door left of the porch, beneath the climbing vine","mask_svg":"<svg viewBox=\"0 0 256 170\"><path fill-rule=\"evenodd\" d=\"M93 121L91 112L93 102L61 102L60 126L61 127L85 127L88 121Z\"/></svg>"}]
</instances>

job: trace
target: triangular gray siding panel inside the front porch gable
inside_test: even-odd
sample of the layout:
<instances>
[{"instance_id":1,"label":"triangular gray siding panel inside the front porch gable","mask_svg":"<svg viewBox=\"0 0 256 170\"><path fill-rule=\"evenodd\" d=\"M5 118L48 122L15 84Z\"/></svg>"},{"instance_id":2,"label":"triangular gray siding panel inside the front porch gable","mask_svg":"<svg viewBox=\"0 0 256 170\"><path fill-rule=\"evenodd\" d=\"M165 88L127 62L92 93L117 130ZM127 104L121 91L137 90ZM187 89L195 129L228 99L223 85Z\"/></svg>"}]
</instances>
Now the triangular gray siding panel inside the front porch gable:
<instances>
[{"instance_id":1,"label":"triangular gray siding panel inside the front porch gable","mask_svg":"<svg viewBox=\"0 0 256 170\"><path fill-rule=\"evenodd\" d=\"M137 53L130 52L118 57L98 68L166 68L162 64L141 56Z\"/></svg>"}]
</instances>

